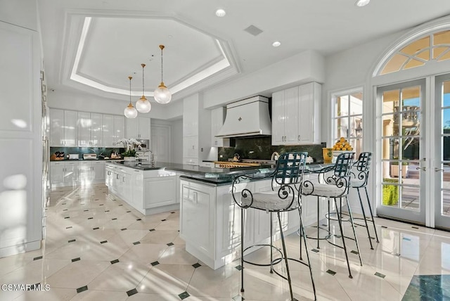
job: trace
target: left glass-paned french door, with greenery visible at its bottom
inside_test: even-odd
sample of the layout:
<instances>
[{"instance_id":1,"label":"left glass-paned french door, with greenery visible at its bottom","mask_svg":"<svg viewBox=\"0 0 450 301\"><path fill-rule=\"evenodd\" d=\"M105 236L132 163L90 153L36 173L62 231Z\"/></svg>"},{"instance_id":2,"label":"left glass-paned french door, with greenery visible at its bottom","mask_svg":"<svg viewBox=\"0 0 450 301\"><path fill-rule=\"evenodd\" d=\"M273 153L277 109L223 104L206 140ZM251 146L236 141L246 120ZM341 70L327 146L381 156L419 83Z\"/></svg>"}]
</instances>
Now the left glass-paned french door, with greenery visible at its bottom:
<instances>
[{"instance_id":1,"label":"left glass-paned french door, with greenery visible at its bottom","mask_svg":"<svg viewBox=\"0 0 450 301\"><path fill-rule=\"evenodd\" d=\"M428 179L425 79L378 87L381 115L381 200L378 216L425 225Z\"/></svg>"}]
</instances>

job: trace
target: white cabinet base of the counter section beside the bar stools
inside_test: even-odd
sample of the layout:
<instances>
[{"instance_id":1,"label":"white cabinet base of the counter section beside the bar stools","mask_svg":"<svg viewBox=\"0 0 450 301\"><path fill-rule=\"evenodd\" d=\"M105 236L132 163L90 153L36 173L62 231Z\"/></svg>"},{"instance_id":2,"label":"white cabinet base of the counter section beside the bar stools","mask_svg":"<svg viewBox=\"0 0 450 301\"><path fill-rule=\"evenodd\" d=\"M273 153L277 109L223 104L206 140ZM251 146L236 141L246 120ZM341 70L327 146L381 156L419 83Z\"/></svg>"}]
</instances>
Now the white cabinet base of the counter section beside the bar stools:
<instances>
[{"instance_id":1,"label":"white cabinet base of the counter section beside the bar stools","mask_svg":"<svg viewBox=\"0 0 450 301\"><path fill-rule=\"evenodd\" d=\"M271 181L255 181L238 185L250 191L269 191ZM218 269L240 257L240 207L234 203L231 185L214 186L181 178L180 237L186 241L186 251ZM261 210L245 210L244 248L268 243L270 240L270 214ZM279 238L276 214L273 214L274 239ZM283 213L283 233L298 229L298 211ZM256 248L251 248L252 252Z\"/></svg>"}]
</instances>

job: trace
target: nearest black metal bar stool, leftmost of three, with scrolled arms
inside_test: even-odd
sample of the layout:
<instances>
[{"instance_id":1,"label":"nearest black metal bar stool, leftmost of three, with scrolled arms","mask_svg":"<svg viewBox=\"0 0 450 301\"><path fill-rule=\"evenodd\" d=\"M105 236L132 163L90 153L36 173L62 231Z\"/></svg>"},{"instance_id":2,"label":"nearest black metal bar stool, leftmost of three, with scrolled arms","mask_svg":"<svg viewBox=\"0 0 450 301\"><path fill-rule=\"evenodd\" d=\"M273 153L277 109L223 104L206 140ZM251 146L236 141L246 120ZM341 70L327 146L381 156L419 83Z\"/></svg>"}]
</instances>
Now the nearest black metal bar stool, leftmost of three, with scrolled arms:
<instances>
[{"instance_id":1,"label":"nearest black metal bar stool, leftmost of three, with scrolled arms","mask_svg":"<svg viewBox=\"0 0 450 301\"><path fill-rule=\"evenodd\" d=\"M292 282L290 277L290 271L289 271L289 264L288 260L295 260L296 262L300 262L301 264L306 265L309 267L309 274L311 276L311 282L312 282L312 288L314 290L314 300L316 300L316 287L314 285L314 279L312 277L312 271L311 271L311 263L309 262L309 253L307 248L306 249L306 255L307 255L307 262L304 262L302 260L297 260L294 258L289 258L288 254L286 252L286 246L284 241L284 234L283 234L283 225L281 224L281 213L282 212L289 212L292 210L298 210L300 214L300 233L304 233L303 231L303 222L302 222L302 216L300 212L300 206L301 206L301 193L300 188L302 186L303 181L303 174L304 174L304 167L306 163L308 153L283 153L278 158L278 161L276 163L276 170L274 173L270 174L267 177L264 178L271 178L272 179L272 191L267 193L255 193L250 191L248 188L244 188L243 191L240 193L233 193L233 199L236 202L236 204L240 207L240 216L241 216L241 223L240 223L240 241L241 241L241 252L240 252L240 265L241 265L241 288L240 291L244 292L244 262L248 264L255 264L255 265L262 265L262 266L270 266L270 272L276 273L278 276L281 276L282 278L286 279L289 283L289 290L290 290L290 298L291 300L294 299L293 295L293 288L292 288ZM264 179L263 177L252 177L250 175L240 175L238 177L235 177L233 181L233 191L236 191L236 187L238 184L243 183L244 181L251 181L252 179ZM278 217L278 224L280 226L280 235L281 235L281 245L283 247L283 250L280 250L279 248L276 248L273 244L273 229L272 226L270 228L270 244L269 245L251 245L248 248L243 248L243 241L244 241L244 210L248 208L255 208L257 210L264 210L265 212L276 213ZM302 235L304 244L306 245L306 237ZM302 244L302 241L300 238L300 245ZM271 250L271 258L269 264L257 264L255 262L249 262L244 259L244 252L245 250L248 250L249 248L253 248L255 246L268 246ZM273 250L276 250L281 254L280 258L276 258L274 260L273 257ZM301 257L301 256L300 256ZM277 264L279 262L285 262L286 267L286 276L283 274L280 274L278 271L274 269L274 264Z\"/></svg>"}]
</instances>

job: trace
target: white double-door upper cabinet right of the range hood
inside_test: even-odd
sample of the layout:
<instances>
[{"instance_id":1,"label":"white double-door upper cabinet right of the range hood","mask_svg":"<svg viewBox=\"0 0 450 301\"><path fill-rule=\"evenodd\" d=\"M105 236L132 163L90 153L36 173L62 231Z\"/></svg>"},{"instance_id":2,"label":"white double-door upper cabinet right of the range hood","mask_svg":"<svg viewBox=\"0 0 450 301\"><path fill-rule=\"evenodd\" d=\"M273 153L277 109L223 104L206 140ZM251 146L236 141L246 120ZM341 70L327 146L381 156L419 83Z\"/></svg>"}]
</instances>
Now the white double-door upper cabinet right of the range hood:
<instances>
[{"instance_id":1,"label":"white double-door upper cabinet right of the range hood","mask_svg":"<svg viewBox=\"0 0 450 301\"><path fill-rule=\"evenodd\" d=\"M272 94L272 145L321 143L320 103L316 82Z\"/></svg>"}]
</instances>

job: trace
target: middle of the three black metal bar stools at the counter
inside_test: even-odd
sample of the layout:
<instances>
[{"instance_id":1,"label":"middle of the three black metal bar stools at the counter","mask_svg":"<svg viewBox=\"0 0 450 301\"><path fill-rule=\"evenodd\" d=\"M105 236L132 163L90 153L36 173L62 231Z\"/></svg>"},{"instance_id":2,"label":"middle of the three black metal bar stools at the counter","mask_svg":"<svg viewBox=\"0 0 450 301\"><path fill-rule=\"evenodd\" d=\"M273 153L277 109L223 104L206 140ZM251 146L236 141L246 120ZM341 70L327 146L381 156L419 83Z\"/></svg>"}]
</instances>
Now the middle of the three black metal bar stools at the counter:
<instances>
[{"instance_id":1,"label":"middle of the three black metal bar stools at the counter","mask_svg":"<svg viewBox=\"0 0 450 301\"><path fill-rule=\"evenodd\" d=\"M359 263L362 264L361 260L361 254L359 252L359 244L358 244L358 238L356 237L356 232L354 230L354 221L352 216L352 210L349 206L348 201L348 193L349 193L349 187L350 187L350 179L351 179L351 170L352 170L352 163L353 163L354 153L341 153L338 155L338 158L336 160L336 163L332 167L326 167L325 169L322 169L320 172L326 171L326 172L332 172L332 175L330 177L325 176L325 182L324 183L314 183L310 180L303 181L302 184L302 194L304 196L317 196L317 202L319 203L320 198L327 198L328 201L328 214L326 214L326 217L328 218L328 231L330 231L330 198L333 198L336 208L336 217L339 224L340 229L340 237L342 238L342 245L335 244L328 240L328 238L331 237L327 236L326 241L328 243L335 245L338 248L342 248L345 252L345 259L347 260L347 267L349 270L349 278L353 278L352 271L350 269L349 264L349 257L347 255L347 246L345 245L345 238L349 238L344 236L344 232L342 231L342 198L345 198L348 210L349 210L349 219L348 221L352 224L353 229L353 235L354 238L351 238L356 242L356 249L358 250L358 256L359 256ZM338 198L340 200L340 205L338 207ZM319 220L317 221L319 223ZM320 225L318 224L318 231L320 228ZM318 240L319 245L319 236L317 238L314 238Z\"/></svg>"}]
</instances>

